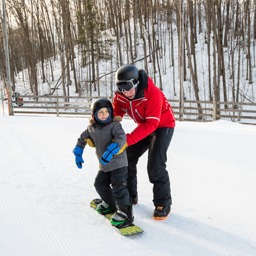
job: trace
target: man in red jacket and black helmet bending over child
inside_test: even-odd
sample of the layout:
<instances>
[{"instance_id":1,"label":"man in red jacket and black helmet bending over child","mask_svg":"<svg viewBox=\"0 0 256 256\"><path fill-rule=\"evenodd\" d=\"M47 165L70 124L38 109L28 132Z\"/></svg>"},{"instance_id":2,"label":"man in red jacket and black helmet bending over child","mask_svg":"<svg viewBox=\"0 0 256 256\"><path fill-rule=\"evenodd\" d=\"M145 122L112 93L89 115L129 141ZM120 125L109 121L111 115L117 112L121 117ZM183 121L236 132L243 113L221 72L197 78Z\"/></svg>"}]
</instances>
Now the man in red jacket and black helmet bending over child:
<instances>
[{"instance_id":1,"label":"man in red jacket and black helmet bending over child","mask_svg":"<svg viewBox=\"0 0 256 256\"><path fill-rule=\"evenodd\" d=\"M148 150L147 172L153 186L153 217L167 218L171 212L170 179L166 170L167 150L174 134L175 118L166 96L144 70L123 65L115 74L117 92L114 115L128 114L138 127L127 135L128 178L133 204L138 203L137 163Z\"/></svg>"}]
</instances>

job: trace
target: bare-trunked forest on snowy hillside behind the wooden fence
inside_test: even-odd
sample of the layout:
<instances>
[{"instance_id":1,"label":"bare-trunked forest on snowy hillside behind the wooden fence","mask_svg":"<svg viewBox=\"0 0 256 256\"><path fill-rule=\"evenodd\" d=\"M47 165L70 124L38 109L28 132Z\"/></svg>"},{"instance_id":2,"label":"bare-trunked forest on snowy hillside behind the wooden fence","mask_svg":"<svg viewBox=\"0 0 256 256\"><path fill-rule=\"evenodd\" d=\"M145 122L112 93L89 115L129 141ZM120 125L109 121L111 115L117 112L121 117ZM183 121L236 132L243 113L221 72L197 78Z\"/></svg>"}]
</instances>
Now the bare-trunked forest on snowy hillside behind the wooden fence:
<instances>
[{"instance_id":1,"label":"bare-trunked forest on snowy hillside behind the wooden fence","mask_svg":"<svg viewBox=\"0 0 256 256\"><path fill-rule=\"evenodd\" d=\"M179 94L180 3L172 0L5 0L12 89L113 96L123 64ZM256 0L184 2L184 97L254 102ZM6 88L2 6L0 80ZM200 43L201 42L201 43ZM60 61L59 77L53 75ZM102 68L103 67L103 68ZM254 73L253 73L254 71ZM171 74L172 79L164 79ZM51 90L52 83L55 89ZM105 95L106 95L105 93Z\"/></svg>"}]
</instances>

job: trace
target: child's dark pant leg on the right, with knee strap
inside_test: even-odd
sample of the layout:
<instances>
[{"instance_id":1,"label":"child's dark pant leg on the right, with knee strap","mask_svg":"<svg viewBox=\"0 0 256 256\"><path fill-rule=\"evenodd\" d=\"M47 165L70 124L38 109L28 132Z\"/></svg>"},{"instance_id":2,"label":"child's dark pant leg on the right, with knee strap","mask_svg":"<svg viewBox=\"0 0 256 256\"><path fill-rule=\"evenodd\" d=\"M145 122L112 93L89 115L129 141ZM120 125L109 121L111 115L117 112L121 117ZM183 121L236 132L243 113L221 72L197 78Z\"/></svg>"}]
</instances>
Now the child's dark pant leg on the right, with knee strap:
<instances>
[{"instance_id":1,"label":"child's dark pant leg on the right, with knee strap","mask_svg":"<svg viewBox=\"0 0 256 256\"><path fill-rule=\"evenodd\" d=\"M113 185L118 181L127 183L127 167L122 167L111 171L111 183L112 192L115 197L115 202L117 205L130 205L130 195L127 187L123 185Z\"/></svg>"}]
</instances>

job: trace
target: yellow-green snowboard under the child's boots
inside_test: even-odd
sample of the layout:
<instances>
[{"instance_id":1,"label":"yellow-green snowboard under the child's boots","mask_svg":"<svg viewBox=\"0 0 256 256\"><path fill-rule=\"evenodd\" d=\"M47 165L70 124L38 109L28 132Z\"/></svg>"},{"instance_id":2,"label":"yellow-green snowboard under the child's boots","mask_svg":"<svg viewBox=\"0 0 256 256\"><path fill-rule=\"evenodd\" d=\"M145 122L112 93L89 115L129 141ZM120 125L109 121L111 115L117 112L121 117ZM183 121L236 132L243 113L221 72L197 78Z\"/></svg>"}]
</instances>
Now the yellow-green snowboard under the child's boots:
<instances>
[{"instance_id":1,"label":"yellow-green snowboard under the child's boots","mask_svg":"<svg viewBox=\"0 0 256 256\"><path fill-rule=\"evenodd\" d=\"M94 210L96 210L97 205L101 203L101 199L93 199L90 202L90 207L92 207ZM110 218L112 216L113 213L110 214L106 214L106 215L102 215L105 218L107 218L110 221ZM131 234L138 234L138 233L142 233L144 232L143 229L139 228L137 225L135 225L134 223L131 223L129 225L125 225L122 228L117 228L116 226L113 226L113 228L115 230L117 230L117 232L123 236L129 236Z\"/></svg>"}]
</instances>

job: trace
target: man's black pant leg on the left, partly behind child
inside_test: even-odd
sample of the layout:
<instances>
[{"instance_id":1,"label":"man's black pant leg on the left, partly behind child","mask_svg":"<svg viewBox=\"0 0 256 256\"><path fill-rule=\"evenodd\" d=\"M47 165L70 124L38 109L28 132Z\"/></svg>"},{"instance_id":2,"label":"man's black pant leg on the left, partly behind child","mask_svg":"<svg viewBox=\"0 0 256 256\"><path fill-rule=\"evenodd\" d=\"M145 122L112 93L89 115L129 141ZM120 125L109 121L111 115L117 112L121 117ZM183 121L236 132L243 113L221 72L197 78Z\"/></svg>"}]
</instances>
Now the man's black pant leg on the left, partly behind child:
<instances>
[{"instance_id":1,"label":"man's black pant leg on the left, partly behind child","mask_svg":"<svg viewBox=\"0 0 256 256\"><path fill-rule=\"evenodd\" d=\"M127 184L130 187L131 199L135 199L137 196L137 163L139 158L148 150L148 137L141 141L127 147L127 159L128 159L128 177Z\"/></svg>"}]
</instances>

